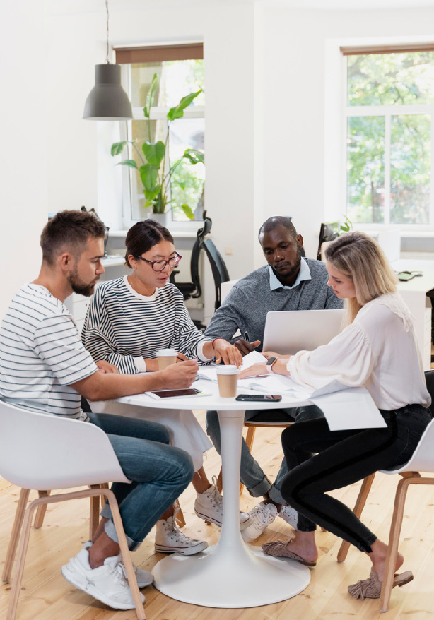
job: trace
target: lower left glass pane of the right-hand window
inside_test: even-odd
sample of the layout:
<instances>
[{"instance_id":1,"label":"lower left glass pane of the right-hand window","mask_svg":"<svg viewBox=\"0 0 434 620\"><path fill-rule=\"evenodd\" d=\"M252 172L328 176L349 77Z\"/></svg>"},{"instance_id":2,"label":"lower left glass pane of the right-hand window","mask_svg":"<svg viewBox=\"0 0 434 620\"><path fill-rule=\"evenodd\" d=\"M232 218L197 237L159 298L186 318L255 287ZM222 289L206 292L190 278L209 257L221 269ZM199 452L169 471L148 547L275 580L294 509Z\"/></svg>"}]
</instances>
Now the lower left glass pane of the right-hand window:
<instances>
[{"instance_id":1,"label":"lower left glass pane of the right-hand window","mask_svg":"<svg viewBox=\"0 0 434 620\"><path fill-rule=\"evenodd\" d=\"M353 222L384 222L384 117L350 117L347 129L347 215Z\"/></svg>"}]
</instances>

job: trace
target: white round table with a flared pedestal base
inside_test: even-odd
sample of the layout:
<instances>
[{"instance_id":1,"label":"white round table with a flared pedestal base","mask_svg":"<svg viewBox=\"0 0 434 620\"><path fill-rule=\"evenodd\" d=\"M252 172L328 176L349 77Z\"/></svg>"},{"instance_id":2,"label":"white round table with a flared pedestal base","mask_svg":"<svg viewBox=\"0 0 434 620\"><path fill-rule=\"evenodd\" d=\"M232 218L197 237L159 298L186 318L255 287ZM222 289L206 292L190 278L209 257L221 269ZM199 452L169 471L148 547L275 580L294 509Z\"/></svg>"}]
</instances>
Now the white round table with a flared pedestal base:
<instances>
[{"instance_id":1,"label":"white round table with a flared pedestal base","mask_svg":"<svg viewBox=\"0 0 434 620\"><path fill-rule=\"evenodd\" d=\"M309 400L282 397L279 403L245 403L220 398L211 381L194 388L211 396L154 400L146 394L119 398L120 403L168 409L217 410L223 464L223 526L218 543L194 556L172 554L153 568L154 585L174 599L204 607L256 607L286 600L310 583L310 570L293 560L266 556L245 544L240 534L240 458L245 410L310 405ZM238 388L238 393L256 393Z\"/></svg>"}]
</instances>

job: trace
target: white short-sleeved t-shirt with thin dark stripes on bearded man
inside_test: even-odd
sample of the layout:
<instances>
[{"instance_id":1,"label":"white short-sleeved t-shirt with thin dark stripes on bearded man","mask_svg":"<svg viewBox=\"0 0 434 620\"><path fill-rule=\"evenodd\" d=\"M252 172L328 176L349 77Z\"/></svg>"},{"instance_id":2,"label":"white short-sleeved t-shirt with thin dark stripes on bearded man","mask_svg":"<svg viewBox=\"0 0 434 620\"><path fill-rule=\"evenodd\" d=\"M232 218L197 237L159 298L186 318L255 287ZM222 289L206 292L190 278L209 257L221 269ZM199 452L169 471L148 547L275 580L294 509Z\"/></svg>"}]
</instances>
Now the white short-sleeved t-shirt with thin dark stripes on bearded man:
<instances>
[{"instance_id":1,"label":"white short-sleeved t-shirt with thin dark stripes on bearded man","mask_svg":"<svg viewBox=\"0 0 434 620\"><path fill-rule=\"evenodd\" d=\"M23 286L0 328L0 398L31 411L88 419L69 387L98 368L64 304L41 285Z\"/></svg>"}]
</instances>

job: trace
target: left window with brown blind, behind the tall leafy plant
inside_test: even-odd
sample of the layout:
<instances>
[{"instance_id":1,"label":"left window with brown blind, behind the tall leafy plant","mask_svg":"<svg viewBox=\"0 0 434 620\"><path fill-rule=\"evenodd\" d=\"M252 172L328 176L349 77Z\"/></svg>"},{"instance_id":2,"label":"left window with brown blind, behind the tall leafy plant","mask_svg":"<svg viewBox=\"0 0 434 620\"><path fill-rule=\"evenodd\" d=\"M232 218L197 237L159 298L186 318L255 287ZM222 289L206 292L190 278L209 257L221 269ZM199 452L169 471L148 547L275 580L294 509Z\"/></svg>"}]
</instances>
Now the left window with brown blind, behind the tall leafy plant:
<instances>
[{"instance_id":1,"label":"left window with brown blind, behind the tall leafy plant","mask_svg":"<svg viewBox=\"0 0 434 620\"><path fill-rule=\"evenodd\" d=\"M141 149L143 142L165 142L168 131L166 115L171 107L189 93L204 88L203 44L119 48L116 61L123 64L124 88L129 93L134 120L125 124L122 140L134 140ZM158 90L153 97L148 121L143 116L149 88L154 74L158 76ZM187 148L204 151L205 97L200 93L184 109L184 116L170 123L165 169L173 167ZM141 165L139 154L129 145L128 158ZM180 205L186 203L194 212L194 219L201 220L204 210L205 167L182 160L171 174L170 214L172 222L189 222ZM124 170L124 221L126 225L143 219L149 209L143 207L143 186L136 169ZM181 224L182 225L182 224Z\"/></svg>"}]
</instances>

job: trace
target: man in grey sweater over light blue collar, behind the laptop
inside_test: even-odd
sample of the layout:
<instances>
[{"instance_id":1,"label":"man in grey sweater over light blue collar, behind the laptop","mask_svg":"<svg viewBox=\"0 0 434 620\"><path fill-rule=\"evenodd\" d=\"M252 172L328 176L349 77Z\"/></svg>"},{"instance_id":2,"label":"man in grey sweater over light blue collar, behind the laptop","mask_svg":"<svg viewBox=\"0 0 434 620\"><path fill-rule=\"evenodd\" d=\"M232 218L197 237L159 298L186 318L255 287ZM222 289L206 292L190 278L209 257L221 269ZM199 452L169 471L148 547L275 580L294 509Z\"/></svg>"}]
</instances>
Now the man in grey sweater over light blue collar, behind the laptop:
<instances>
[{"instance_id":1,"label":"man in grey sweater over light blue collar, behind the laptop","mask_svg":"<svg viewBox=\"0 0 434 620\"><path fill-rule=\"evenodd\" d=\"M259 243L268 264L235 284L205 331L208 338L221 337L225 340L233 338L237 329L242 335L248 333L251 342L244 338L235 342L242 354L262 344L267 312L340 309L343 303L327 285L328 274L324 263L302 258L303 237L297 234L289 217L270 217L266 220L259 229ZM314 405L279 411L288 415L288 421L322 415L321 410ZM270 414L270 421L276 419L272 417L276 415L276 410L247 411L245 419L252 419L259 413L262 419L267 414ZM206 429L216 450L221 453L216 411L207 412ZM252 496L264 496L264 501L250 511L251 525L242 532L247 542L261 535L277 515L296 527L297 513L286 506L280 491L286 472L286 461L283 458L276 480L271 483L242 440L241 482Z\"/></svg>"}]
</instances>

